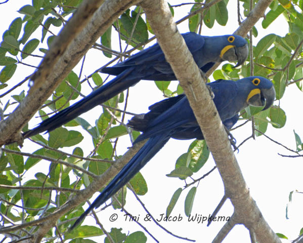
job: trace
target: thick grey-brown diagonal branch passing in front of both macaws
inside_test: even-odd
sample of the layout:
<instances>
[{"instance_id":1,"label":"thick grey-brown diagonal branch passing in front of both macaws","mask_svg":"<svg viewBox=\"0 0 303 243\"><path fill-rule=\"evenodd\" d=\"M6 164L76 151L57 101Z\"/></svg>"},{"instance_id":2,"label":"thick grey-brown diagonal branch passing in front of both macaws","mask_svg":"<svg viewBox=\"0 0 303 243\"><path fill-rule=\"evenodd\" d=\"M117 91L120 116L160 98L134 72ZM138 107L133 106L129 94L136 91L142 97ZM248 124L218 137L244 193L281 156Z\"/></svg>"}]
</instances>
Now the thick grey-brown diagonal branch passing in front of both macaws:
<instances>
[{"instance_id":1,"label":"thick grey-brown diagonal branch passing in front of both macaws","mask_svg":"<svg viewBox=\"0 0 303 243\"><path fill-rule=\"evenodd\" d=\"M141 5L165 58L174 70L195 113L223 179L226 195L235 208L237 223L253 228L258 242L280 242L249 194L218 111L184 39L172 20L167 4L163 0L146 0Z\"/></svg>"}]
</instances>

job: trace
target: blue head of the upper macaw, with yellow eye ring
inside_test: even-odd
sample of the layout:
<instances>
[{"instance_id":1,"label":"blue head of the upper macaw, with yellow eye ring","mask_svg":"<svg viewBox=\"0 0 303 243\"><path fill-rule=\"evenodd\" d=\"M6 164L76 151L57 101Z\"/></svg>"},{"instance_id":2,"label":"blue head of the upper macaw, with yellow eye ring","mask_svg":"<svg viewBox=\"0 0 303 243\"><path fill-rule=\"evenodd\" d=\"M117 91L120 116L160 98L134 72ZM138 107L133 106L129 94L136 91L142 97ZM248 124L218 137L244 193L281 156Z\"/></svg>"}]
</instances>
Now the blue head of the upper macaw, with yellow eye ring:
<instances>
[{"instance_id":1,"label":"blue head of the upper macaw, with yellow eye ring","mask_svg":"<svg viewBox=\"0 0 303 243\"><path fill-rule=\"evenodd\" d=\"M238 67L242 65L248 57L248 44L246 40L239 35L222 35L220 38L220 58L223 61L238 61Z\"/></svg>"}]
</instances>

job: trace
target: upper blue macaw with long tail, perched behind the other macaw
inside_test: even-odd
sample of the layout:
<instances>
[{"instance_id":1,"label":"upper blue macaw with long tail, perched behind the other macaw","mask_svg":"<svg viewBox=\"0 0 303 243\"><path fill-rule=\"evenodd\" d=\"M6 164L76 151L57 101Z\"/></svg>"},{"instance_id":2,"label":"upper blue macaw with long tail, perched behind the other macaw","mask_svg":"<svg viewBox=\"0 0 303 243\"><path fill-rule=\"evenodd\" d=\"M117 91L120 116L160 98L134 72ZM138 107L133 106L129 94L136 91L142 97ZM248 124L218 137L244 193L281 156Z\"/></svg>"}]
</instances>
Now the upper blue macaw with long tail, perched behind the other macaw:
<instances>
[{"instance_id":1,"label":"upper blue macaw with long tail, perched behind the other macaw","mask_svg":"<svg viewBox=\"0 0 303 243\"><path fill-rule=\"evenodd\" d=\"M247 42L238 35L201 36L189 32L182 36L195 62L203 72L208 71L215 62L238 61L235 66L237 67L243 64L248 56ZM105 67L101 72L116 75L116 77L70 107L45 119L38 127L25 132L23 137L28 138L41 132L50 132L134 86L141 79L176 80L176 76L158 44L113 67Z\"/></svg>"}]
</instances>

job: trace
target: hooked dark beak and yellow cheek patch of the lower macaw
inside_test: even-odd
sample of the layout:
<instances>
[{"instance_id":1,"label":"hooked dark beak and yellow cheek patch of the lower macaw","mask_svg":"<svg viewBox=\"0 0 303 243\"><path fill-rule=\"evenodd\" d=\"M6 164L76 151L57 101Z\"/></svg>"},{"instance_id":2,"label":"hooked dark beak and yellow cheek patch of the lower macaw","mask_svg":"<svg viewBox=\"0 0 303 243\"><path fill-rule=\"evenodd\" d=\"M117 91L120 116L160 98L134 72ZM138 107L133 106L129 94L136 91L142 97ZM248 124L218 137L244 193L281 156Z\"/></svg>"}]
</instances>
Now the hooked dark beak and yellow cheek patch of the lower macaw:
<instances>
[{"instance_id":1,"label":"hooked dark beak and yellow cheek patch of the lower macaw","mask_svg":"<svg viewBox=\"0 0 303 243\"><path fill-rule=\"evenodd\" d=\"M272 106L276 98L275 87L270 89L254 89L250 92L247 103L253 106L264 106L262 110L266 110Z\"/></svg>"}]
</instances>

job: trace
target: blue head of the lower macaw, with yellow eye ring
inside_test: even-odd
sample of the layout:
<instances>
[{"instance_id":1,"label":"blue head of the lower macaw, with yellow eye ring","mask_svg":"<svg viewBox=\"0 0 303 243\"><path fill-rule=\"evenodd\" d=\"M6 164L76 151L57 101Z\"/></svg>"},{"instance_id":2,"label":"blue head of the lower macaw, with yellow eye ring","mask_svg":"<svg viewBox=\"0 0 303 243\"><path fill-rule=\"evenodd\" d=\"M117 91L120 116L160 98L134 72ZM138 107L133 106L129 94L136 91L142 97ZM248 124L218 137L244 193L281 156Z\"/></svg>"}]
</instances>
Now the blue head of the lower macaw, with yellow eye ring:
<instances>
[{"instance_id":1,"label":"blue head of the lower macaw, with yellow eye ring","mask_svg":"<svg viewBox=\"0 0 303 243\"><path fill-rule=\"evenodd\" d=\"M253 106L264 106L268 109L274 103L276 91L273 83L265 77L245 77L239 82L239 90L245 93L246 103Z\"/></svg>"}]
</instances>

